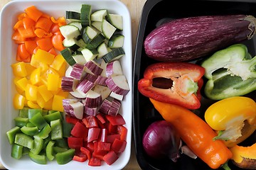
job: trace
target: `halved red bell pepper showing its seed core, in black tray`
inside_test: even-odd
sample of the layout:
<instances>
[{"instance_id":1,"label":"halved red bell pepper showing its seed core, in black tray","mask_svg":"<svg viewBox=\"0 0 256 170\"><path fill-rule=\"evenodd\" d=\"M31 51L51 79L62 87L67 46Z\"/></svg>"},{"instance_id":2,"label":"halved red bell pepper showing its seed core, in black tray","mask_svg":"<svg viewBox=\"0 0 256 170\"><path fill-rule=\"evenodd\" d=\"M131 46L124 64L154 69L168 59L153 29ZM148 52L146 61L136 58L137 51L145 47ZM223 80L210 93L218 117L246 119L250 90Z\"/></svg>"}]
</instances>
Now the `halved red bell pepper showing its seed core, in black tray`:
<instances>
[{"instance_id":1,"label":"halved red bell pepper showing its seed core, in black tray","mask_svg":"<svg viewBox=\"0 0 256 170\"><path fill-rule=\"evenodd\" d=\"M173 103L188 109L201 106L203 67L185 62L151 64L138 82L138 90L156 101Z\"/></svg>"}]
</instances>

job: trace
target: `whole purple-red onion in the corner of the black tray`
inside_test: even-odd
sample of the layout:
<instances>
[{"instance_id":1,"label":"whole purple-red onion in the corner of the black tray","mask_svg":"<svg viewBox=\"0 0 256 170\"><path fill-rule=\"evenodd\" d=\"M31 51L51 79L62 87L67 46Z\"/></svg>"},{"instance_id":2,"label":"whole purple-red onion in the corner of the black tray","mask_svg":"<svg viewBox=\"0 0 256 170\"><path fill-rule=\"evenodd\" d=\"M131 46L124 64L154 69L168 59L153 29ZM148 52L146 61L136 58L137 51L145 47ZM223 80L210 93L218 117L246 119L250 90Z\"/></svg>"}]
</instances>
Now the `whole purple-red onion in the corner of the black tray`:
<instances>
[{"instance_id":1,"label":"whole purple-red onion in the corner of the black tray","mask_svg":"<svg viewBox=\"0 0 256 170\"><path fill-rule=\"evenodd\" d=\"M151 123L143 135L142 144L149 157L161 159L169 157L176 162L180 157L180 135L174 126L165 120Z\"/></svg>"}]
</instances>

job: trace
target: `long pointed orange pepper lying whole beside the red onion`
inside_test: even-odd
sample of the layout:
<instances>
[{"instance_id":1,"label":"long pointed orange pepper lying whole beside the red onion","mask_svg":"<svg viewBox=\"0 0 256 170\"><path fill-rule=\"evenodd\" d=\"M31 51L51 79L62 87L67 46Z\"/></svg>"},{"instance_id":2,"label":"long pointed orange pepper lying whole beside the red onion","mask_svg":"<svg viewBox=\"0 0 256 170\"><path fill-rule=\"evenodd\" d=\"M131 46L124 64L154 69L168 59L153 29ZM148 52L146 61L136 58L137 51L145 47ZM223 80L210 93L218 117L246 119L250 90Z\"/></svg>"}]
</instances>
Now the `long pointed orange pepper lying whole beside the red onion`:
<instances>
[{"instance_id":1,"label":"long pointed orange pepper lying whole beside the red onion","mask_svg":"<svg viewBox=\"0 0 256 170\"><path fill-rule=\"evenodd\" d=\"M174 104L155 101L151 98L150 101L164 120L174 125L183 142L210 168L218 169L232 157L232 153L223 141L213 141L216 133L196 114Z\"/></svg>"}]
</instances>

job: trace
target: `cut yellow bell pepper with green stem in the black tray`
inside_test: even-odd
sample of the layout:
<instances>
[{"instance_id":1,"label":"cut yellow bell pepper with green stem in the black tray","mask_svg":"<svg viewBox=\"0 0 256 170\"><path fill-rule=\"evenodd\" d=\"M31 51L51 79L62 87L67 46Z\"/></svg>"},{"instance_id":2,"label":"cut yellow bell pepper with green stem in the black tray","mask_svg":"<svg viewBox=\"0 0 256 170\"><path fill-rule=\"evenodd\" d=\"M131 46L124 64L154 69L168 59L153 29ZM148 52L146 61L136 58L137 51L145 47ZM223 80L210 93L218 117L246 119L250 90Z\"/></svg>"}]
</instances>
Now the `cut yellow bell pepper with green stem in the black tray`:
<instances>
[{"instance_id":1,"label":"cut yellow bell pepper with green stem in the black tray","mask_svg":"<svg viewBox=\"0 0 256 170\"><path fill-rule=\"evenodd\" d=\"M228 147L233 147L255 131L256 103L243 96L225 98L206 110L205 119L218 131L214 140L224 140Z\"/></svg>"}]
</instances>

